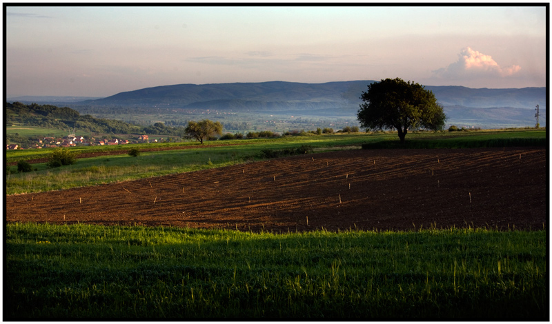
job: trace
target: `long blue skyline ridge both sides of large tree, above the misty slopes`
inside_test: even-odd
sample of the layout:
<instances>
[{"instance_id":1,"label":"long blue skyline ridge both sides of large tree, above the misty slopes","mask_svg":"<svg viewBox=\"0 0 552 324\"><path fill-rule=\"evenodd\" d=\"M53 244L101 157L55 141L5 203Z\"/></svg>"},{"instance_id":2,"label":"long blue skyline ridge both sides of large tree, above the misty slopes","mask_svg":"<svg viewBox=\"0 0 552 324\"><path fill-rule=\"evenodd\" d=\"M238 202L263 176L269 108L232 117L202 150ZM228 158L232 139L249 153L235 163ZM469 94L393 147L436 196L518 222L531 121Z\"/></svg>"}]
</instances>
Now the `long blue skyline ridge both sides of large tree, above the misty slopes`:
<instances>
[{"instance_id":1,"label":"long blue skyline ridge both sides of large tree, above the misty slopes","mask_svg":"<svg viewBox=\"0 0 552 324\"><path fill-rule=\"evenodd\" d=\"M250 110L271 112L308 110L351 110L374 81L328 83L179 84L121 92L111 97L81 101L93 106L141 106L186 109ZM546 108L546 88L473 89L461 86L426 85L443 106L467 108Z\"/></svg>"}]
</instances>

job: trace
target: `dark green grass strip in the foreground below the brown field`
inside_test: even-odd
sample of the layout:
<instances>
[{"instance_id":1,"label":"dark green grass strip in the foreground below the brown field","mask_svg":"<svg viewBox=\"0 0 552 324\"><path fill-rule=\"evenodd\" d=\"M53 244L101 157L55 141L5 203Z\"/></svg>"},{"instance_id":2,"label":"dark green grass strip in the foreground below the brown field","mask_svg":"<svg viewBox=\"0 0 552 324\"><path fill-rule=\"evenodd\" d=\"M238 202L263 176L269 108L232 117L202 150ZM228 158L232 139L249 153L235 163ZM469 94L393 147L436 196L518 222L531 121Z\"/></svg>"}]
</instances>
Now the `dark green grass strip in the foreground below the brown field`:
<instances>
[{"instance_id":1,"label":"dark green grass strip in the foreground below the brown field","mask_svg":"<svg viewBox=\"0 0 552 324\"><path fill-rule=\"evenodd\" d=\"M546 232L6 225L4 319L549 318Z\"/></svg>"}]
</instances>

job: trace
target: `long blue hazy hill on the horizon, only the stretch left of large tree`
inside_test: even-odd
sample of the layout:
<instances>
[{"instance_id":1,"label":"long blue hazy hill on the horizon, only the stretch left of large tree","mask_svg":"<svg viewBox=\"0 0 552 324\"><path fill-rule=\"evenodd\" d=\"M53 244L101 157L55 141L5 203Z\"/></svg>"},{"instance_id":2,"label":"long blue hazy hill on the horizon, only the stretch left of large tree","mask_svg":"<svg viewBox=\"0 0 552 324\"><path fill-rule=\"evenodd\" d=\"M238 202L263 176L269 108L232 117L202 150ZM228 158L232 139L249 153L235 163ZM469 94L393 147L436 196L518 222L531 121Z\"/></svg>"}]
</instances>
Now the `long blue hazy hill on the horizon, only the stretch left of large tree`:
<instances>
[{"instance_id":1,"label":"long blue hazy hill on the horizon, only the stretch left of large tree","mask_svg":"<svg viewBox=\"0 0 552 324\"><path fill-rule=\"evenodd\" d=\"M164 85L83 101L87 105L170 106L217 110L310 110L357 106L360 93L372 81L330 83L216 83ZM351 95L355 102L351 102Z\"/></svg>"}]
</instances>

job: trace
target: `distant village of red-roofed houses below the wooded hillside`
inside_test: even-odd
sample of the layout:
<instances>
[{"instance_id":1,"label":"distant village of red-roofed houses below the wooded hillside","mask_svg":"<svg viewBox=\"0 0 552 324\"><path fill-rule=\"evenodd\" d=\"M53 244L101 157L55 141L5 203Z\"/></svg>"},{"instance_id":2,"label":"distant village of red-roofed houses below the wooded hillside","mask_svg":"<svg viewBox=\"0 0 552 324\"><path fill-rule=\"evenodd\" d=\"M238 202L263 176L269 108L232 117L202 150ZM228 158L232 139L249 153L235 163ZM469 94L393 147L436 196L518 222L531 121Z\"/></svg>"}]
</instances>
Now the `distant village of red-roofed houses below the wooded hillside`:
<instances>
[{"instance_id":1,"label":"distant village of red-roofed houses below the wooded hillside","mask_svg":"<svg viewBox=\"0 0 552 324\"><path fill-rule=\"evenodd\" d=\"M157 139L152 142L157 142ZM163 141L163 139L159 139ZM124 145L129 143L150 143L148 135L140 135L137 139L95 139L93 136L75 136L75 134L69 134L63 137L43 137L38 139L37 142L23 148L18 144L6 144L6 150L26 150L26 149L41 149L41 148L70 148L72 146L96 146L96 145Z\"/></svg>"}]
</instances>

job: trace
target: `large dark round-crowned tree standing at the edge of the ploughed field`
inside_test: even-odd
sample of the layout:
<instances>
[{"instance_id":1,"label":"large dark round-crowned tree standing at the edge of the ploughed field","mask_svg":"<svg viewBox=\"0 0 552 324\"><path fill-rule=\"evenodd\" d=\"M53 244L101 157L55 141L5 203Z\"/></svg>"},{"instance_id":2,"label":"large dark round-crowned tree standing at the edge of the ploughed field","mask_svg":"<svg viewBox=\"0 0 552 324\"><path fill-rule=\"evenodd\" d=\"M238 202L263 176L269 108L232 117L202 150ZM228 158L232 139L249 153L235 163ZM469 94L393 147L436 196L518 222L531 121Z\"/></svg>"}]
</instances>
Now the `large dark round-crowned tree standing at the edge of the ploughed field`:
<instances>
[{"instance_id":1,"label":"large dark round-crowned tree standing at the edge of the ploughed field","mask_svg":"<svg viewBox=\"0 0 552 324\"><path fill-rule=\"evenodd\" d=\"M396 128L404 143L408 130L426 128L442 130L446 116L435 95L423 85L400 78L385 79L368 85L360 97L357 119L362 128L383 130Z\"/></svg>"}]
</instances>

